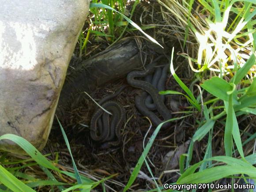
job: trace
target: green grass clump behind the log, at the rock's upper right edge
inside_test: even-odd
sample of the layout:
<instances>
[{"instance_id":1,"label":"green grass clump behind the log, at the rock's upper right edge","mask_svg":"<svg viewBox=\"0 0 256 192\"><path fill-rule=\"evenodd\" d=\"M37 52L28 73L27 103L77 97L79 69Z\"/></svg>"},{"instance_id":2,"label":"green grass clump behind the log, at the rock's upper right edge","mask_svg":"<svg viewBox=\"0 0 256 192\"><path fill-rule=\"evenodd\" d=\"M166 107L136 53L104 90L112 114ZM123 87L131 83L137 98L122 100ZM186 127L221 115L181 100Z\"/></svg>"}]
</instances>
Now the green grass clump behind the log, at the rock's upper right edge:
<instances>
[{"instance_id":1,"label":"green grass clump behind the log, at the rock's upper right edge","mask_svg":"<svg viewBox=\"0 0 256 192\"><path fill-rule=\"evenodd\" d=\"M124 0L92 0L88 27L79 36L79 56L86 53L89 36L96 41L104 39L109 45L120 40L130 23L124 16L131 19L138 3L139 0L135 0L127 10L127 1Z\"/></svg>"}]
</instances>

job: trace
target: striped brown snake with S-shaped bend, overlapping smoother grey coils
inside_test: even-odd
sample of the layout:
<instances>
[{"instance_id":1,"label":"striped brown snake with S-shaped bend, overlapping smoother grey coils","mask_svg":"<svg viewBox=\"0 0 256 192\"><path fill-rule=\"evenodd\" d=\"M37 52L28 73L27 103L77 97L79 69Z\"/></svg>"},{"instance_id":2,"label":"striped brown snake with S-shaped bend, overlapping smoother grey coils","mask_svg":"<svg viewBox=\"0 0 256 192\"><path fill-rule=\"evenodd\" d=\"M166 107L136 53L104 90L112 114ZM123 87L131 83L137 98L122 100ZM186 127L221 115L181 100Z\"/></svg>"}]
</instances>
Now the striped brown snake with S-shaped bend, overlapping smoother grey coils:
<instances>
[{"instance_id":1,"label":"striped brown snake with S-shaped bend, overlapping smoother grey coils","mask_svg":"<svg viewBox=\"0 0 256 192\"><path fill-rule=\"evenodd\" d=\"M139 112L142 113L144 116L149 117L155 126L158 126L158 124L162 123L163 121L169 120L171 118L171 113L169 109L167 109L164 102L162 101L162 98L159 97L158 89L154 87L151 83L136 78L146 77L148 74L150 74L152 68L156 65L156 62L160 58L162 58L162 56L158 56L151 64L147 66L145 71L132 71L128 73L126 78L128 84L130 84L132 87L144 90L140 95L136 96L135 105ZM163 120L160 120L158 116L152 111L150 111L145 105L147 93L151 95L155 107L157 111L160 113L160 115L163 117ZM167 128L169 127L169 124L164 124L162 127Z\"/></svg>"}]
</instances>

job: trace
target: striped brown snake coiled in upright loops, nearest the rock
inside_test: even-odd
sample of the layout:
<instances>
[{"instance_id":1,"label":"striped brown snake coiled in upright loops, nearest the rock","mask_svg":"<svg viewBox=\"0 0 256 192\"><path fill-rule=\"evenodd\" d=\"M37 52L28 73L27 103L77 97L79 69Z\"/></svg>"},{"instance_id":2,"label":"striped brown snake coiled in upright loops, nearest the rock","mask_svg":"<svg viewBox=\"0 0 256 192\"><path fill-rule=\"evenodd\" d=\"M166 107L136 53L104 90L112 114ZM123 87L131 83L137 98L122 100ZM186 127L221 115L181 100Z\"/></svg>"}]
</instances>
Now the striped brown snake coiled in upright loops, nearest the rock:
<instances>
[{"instance_id":1,"label":"striped brown snake coiled in upright loops, nearest the rock","mask_svg":"<svg viewBox=\"0 0 256 192\"><path fill-rule=\"evenodd\" d=\"M117 97L118 94L127 85L123 85L114 94L108 95L98 102L104 109L109 111L112 116L106 113L102 108L98 108L93 114L90 122L90 136L94 141L101 143L107 142L107 146L117 146L120 144L120 128L122 127L125 119L125 110L117 102L109 101ZM113 141L117 137L117 140Z\"/></svg>"}]
</instances>

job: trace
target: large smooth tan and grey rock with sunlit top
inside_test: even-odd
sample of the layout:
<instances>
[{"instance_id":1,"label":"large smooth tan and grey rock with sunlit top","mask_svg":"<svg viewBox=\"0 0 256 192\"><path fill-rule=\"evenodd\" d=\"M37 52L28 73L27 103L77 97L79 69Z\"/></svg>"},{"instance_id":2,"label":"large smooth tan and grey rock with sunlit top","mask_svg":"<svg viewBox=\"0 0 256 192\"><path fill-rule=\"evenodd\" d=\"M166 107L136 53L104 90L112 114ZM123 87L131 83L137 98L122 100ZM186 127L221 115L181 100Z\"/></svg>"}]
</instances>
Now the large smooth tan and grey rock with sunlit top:
<instances>
[{"instance_id":1,"label":"large smooth tan and grey rock with sunlit top","mask_svg":"<svg viewBox=\"0 0 256 192\"><path fill-rule=\"evenodd\" d=\"M0 0L0 135L45 146L89 0ZM19 153L10 141L0 149Z\"/></svg>"}]
</instances>

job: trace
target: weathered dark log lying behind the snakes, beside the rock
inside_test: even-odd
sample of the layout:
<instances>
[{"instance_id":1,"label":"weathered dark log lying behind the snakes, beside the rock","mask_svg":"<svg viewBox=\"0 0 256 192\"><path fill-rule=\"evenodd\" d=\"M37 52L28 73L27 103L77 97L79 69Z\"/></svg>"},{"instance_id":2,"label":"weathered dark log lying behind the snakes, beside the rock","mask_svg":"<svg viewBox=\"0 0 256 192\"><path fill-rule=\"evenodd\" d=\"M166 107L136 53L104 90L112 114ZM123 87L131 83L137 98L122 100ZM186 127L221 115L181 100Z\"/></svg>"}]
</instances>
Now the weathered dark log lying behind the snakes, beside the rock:
<instances>
[{"instance_id":1,"label":"weathered dark log lying behind the snakes, beside the rock","mask_svg":"<svg viewBox=\"0 0 256 192\"><path fill-rule=\"evenodd\" d=\"M91 93L105 83L126 78L129 72L141 66L139 49L134 40L126 40L82 61L77 66L67 75L58 108L65 108L71 98L78 98L84 91Z\"/></svg>"}]
</instances>

